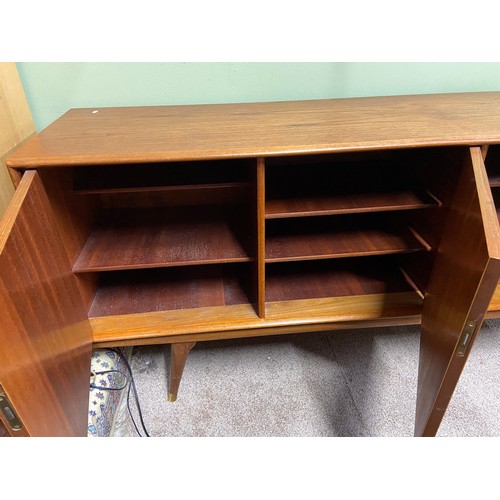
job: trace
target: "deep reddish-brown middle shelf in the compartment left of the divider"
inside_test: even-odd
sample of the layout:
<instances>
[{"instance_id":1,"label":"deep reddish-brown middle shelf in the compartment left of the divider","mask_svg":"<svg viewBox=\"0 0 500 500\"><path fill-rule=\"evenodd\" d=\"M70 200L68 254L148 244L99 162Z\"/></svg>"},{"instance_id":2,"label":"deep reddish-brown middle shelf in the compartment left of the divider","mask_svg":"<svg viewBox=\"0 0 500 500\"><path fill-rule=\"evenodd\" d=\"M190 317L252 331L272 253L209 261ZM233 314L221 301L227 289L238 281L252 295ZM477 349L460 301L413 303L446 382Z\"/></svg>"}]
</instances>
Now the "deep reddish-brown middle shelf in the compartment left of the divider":
<instances>
[{"instance_id":1,"label":"deep reddish-brown middle shelf in the compartment left of the divider","mask_svg":"<svg viewBox=\"0 0 500 500\"><path fill-rule=\"evenodd\" d=\"M73 270L78 273L246 262L239 207L106 210Z\"/></svg>"}]
</instances>

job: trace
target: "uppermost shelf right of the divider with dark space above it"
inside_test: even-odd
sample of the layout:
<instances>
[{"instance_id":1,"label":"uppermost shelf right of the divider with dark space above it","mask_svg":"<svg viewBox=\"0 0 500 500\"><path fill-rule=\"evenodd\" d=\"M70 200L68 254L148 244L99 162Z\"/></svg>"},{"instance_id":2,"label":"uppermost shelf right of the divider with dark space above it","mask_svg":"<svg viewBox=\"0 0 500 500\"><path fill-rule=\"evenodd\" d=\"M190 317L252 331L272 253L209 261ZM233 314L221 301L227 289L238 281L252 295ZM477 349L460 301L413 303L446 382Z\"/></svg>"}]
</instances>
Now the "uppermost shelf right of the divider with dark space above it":
<instances>
[{"instance_id":1,"label":"uppermost shelf right of the divider with dark space above it","mask_svg":"<svg viewBox=\"0 0 500 500\"><path fill-rule=\"evenodd\" d=\"M381 153L378 153L380 156ZM319 155L270 159L266 219L412 210L439 206L404 158ZM402 174L404 173L404 174ZM283 181L286 179L286 182Z\"/></svg>"}]
</instances>

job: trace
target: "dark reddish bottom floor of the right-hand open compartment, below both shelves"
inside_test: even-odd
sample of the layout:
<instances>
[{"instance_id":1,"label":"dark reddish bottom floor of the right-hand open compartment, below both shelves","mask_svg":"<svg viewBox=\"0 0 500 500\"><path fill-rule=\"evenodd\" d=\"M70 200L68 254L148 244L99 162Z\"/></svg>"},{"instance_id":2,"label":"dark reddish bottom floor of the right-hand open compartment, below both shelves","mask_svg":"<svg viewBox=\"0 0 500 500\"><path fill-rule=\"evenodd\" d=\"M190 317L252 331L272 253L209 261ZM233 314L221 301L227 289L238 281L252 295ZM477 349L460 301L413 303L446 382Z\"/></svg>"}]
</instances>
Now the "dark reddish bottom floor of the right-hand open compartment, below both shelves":
<instances>
[{"instance_id":1,"label":"dark reddish bottom floor of the right-hand open compartment, below both shelves","mask_svg":"<svg viewBox=\"0 0 500 500\"><path fill-rule=\"evenodd\" d=\"M385 257L266 266L266 302L415 291Z\"/></svg>"}]
</instances>

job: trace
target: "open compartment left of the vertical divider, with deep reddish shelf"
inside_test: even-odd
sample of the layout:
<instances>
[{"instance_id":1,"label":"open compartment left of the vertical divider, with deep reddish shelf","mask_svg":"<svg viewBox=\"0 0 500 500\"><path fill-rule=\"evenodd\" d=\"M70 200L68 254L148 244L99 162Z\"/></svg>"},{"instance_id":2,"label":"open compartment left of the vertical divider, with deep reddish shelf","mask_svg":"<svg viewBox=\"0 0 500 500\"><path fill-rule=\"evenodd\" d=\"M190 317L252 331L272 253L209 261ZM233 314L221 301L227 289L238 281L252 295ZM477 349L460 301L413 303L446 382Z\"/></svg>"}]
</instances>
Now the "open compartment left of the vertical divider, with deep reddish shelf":
<instances>
[{"instance_id":1,"label":"open compartment left of the vertical divider, with deep reddish shelf","mask_svg":"<svg viewBox=\"0 0 500 500\"><path fill-rule=\"evenodd\" d=\"M90 317L250 304L248 160L77 167L94 222L73 270L93 275Z\"/></svg>"}]
</instances>

